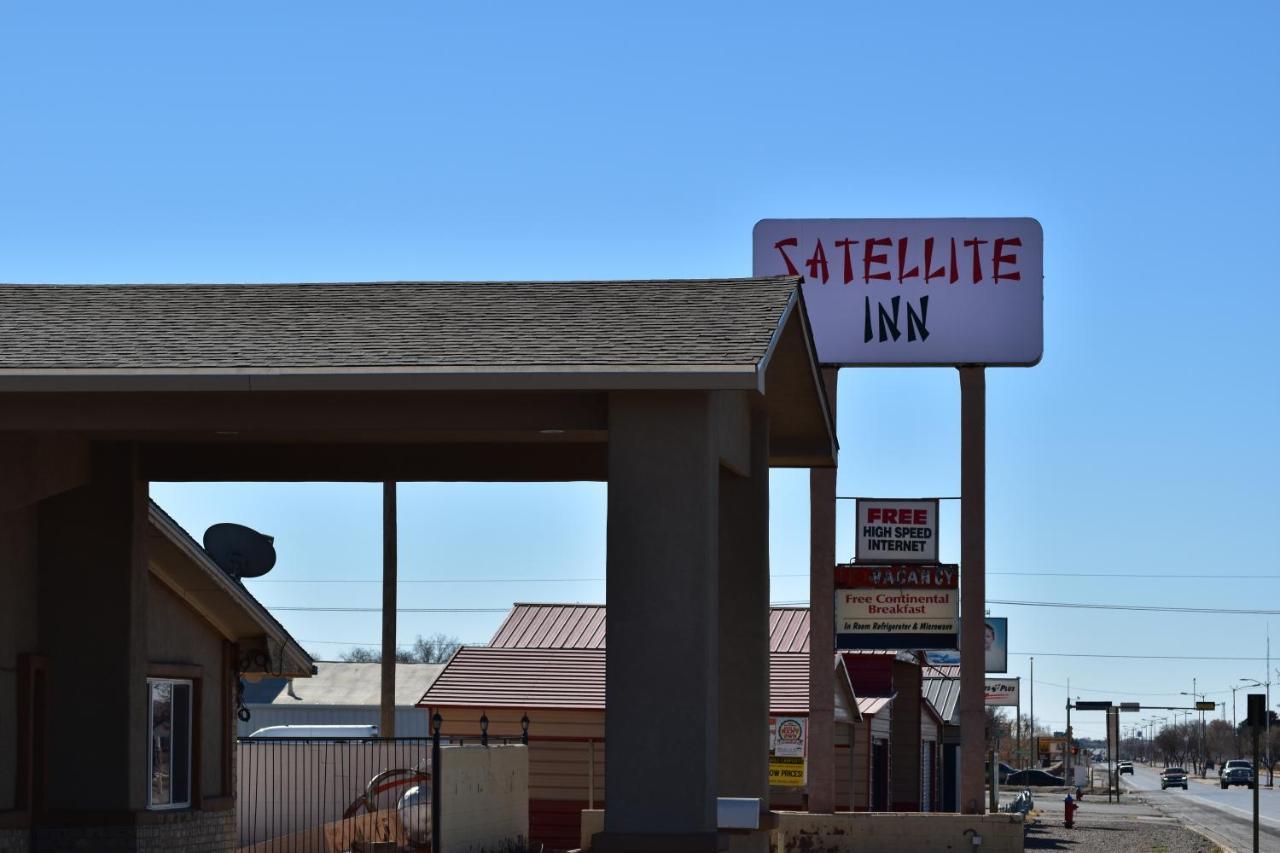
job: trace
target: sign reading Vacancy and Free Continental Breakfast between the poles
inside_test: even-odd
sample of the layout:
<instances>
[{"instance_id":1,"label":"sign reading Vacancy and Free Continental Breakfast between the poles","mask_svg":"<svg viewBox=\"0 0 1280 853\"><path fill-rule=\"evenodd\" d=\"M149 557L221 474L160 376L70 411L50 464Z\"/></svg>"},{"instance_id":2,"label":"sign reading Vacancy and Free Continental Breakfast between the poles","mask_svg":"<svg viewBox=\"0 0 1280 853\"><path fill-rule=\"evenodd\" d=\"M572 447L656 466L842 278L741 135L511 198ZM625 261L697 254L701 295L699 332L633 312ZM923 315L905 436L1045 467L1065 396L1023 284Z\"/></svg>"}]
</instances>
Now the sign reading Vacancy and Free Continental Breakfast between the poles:
<instances>
[{"instance_id":1,"label":"sign reading Vacancy and Free Continental Breakfast between the poles","mask_svg":"<svg viewBox=\"0 0 1280 853\"><path fill-rule=\"evenodd\" d=\"M837 649L956 648L960 571L941 566L836 566Z\"/></svg>"}]
</instances>

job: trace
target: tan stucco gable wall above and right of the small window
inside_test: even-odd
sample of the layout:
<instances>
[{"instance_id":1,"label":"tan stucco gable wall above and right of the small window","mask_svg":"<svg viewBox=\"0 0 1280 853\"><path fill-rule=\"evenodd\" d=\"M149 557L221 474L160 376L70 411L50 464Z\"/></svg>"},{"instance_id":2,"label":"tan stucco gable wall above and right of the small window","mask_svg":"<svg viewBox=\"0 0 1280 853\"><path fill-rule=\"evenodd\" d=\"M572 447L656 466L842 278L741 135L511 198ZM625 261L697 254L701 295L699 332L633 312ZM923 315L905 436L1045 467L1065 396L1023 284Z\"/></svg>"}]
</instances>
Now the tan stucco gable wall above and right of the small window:
<instances>
[{"instance_id":1,"label":"tan stucco gable wall above and right of the small window","mask_svg":"<svg viewBox=\"0 0 1280 853\"><path fill-rule=\"evenodd\" d=\"M147 658L150 663L191 663L204 667L201 679L201 793L205 797L230 794L221 790L223 731L227 721L223 678L223 638L196 611L191 610L155 576L150 583Z\"/></svg>"}]
</instances>

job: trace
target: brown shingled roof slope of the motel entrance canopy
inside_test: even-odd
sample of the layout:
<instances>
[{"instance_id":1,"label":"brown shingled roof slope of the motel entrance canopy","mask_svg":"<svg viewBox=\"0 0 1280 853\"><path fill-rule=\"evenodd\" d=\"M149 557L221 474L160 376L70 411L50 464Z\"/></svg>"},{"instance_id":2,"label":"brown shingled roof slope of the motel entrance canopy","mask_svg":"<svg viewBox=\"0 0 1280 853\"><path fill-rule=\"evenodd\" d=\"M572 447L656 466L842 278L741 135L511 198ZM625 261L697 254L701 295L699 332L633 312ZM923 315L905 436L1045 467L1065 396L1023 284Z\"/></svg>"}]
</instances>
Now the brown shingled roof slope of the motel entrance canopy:
<instances>
[{"instance_id":1,"label":"brown shingled roof slope of the motel entrance canopy","mask_svg":"<svg viewBox=\"0 0 1280 853\"><path fill-rule=\"evenodd\" d=\"M0 286L0 369L753 370L796 278Z\"/></svg>"}]
</instances>

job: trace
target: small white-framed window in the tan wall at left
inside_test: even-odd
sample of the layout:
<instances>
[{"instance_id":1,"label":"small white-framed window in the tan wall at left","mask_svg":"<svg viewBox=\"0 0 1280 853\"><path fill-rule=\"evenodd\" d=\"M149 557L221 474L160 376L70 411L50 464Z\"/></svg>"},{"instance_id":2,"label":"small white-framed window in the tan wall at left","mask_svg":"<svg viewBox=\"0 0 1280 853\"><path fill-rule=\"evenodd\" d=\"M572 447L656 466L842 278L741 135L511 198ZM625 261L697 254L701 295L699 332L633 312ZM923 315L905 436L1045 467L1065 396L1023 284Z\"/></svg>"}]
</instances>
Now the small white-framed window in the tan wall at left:
<instances>
[{"instance_id":1,"label":"small white-framed window in the tan wall at left","mask_svg":"<svg viewBox=\"0 0 1280 853\"><path fill-rule=\"evenodd\" d=\"M191 806L192 683L147 679L148 808Z\"/></svg>"}]
</instances>

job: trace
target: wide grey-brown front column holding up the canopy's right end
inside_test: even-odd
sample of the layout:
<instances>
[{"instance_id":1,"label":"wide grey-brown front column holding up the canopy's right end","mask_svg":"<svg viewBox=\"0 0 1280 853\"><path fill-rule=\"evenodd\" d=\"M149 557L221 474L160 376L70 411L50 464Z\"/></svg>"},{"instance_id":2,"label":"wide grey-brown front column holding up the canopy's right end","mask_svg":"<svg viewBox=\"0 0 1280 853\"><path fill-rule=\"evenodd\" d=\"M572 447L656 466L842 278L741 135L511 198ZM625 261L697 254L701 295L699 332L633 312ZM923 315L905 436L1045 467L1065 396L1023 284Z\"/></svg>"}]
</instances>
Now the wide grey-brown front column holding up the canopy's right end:
<instances>
[{"instance_id":1,"label":"wide grey-brown front column holding up the canopy's right end","mask_svg":"<svg viewBox=\"0 0 1280 853\"><path fill-rule=\"evenodd\" d=\"M718 485L709 394L609 396L602 853L718 848Z\"/></svg>"}]
</instances>

